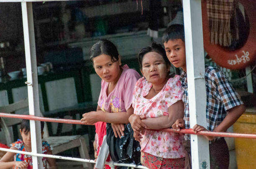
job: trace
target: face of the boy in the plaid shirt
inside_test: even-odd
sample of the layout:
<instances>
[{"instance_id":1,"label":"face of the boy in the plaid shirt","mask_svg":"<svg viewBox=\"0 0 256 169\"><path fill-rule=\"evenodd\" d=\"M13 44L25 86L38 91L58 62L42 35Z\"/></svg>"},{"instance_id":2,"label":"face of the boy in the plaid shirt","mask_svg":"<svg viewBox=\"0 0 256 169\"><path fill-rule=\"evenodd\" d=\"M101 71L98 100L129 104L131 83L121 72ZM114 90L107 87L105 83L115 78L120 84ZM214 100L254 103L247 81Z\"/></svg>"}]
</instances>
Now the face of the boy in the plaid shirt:
<instances>
[{"instance_id":1,"label":"face of the boy in the plaid shirt","mask_svg":"<svg viewBox=\"0 0 256 169\"><path fill-rule=\"evenodd\" d=\"M185 72L186 69L186 51L185 43L181 39L168 40L164 42L164 48L169 61L175 67L181 67Z\"/></svg>"}]
</instances>

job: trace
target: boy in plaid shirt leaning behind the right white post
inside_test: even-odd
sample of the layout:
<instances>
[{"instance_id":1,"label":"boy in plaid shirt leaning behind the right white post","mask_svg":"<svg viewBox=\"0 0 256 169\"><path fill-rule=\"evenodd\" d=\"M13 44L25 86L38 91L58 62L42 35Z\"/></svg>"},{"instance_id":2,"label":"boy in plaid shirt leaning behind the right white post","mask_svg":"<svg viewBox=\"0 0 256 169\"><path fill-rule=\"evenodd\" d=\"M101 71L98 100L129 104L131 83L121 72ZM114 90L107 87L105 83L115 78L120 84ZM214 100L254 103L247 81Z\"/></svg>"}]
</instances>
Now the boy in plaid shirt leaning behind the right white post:
<instances>
[{"instance_id":1,"label":"boy in plaid shirt leaning behind the right white post","mask_svg":"<svg viewBox=\"0 0 256 169\"><path fill-rule=\"evenodd\" d=\"M169 61L175 67L181 67L183 72L180 76L182 88L184 89L184 118L177 119L172 128L190 128L189 125L189 102L187 92L187 67L184 41L184 26L171 25L163 34L163 43ZM245 111L245 106L240 96L230 85L222 72L216 67L205 67L206 85L206 119L207 129L196 124L193 127L195 132L203 130L212 132L225 132ZM228 146L223 137L205 136L209 140L210 168L228 169L229 152ZM190 135L185 134L183 146L187 150L185 169L191 168L191 147Z\"/></svg>"}]
</instances>

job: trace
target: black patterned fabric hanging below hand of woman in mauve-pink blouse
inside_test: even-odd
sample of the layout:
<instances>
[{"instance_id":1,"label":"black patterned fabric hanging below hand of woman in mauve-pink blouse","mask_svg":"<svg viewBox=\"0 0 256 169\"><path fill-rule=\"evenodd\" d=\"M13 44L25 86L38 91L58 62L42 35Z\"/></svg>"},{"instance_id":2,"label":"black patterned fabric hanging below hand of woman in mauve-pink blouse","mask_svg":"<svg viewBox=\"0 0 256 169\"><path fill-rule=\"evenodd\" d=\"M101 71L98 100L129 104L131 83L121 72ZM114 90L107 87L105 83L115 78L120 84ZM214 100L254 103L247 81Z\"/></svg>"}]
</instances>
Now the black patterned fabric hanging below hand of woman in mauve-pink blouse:
<instances>
[{"instance_id":1,"label":"black patterned fabric hanging below hand of woman in mauve-pink blouse","mask_svg":"<svg viewBox=\"0 0 256 169\"><path fill-rule=\"evenodd\" d=\"M133 138L131 124L125 124L124 136L121 139L115 138L115 134L110 123L107 123L107 144L110 157L114 162L121 163L141 163L141 146Z\"/></svg>"}]
</instances>

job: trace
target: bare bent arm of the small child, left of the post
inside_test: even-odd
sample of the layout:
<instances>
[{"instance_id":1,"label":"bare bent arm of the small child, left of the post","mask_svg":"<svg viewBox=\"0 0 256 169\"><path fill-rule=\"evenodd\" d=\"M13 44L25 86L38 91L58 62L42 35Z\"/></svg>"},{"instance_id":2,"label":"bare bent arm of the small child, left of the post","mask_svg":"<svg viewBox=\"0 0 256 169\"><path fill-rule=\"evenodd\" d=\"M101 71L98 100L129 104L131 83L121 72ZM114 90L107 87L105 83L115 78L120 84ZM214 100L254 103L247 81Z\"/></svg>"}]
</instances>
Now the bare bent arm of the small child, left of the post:
<instances>
[{"instance_id":1,"label":"bare bent arm of the small child, left of the post","mask_svg":"<svg viewBox=\"0 0 256 169\"><path fill-rule=\"evenodd\" d=\"M15 147L11 147L10 149L18 150ZM0 159L0 166L1 169L10 169L11 167L19 167L20 169L27 169L28 164L26 162L14 162L13 156L16 153L7 152L1 159Z\"/></svg>"}]
</instances>

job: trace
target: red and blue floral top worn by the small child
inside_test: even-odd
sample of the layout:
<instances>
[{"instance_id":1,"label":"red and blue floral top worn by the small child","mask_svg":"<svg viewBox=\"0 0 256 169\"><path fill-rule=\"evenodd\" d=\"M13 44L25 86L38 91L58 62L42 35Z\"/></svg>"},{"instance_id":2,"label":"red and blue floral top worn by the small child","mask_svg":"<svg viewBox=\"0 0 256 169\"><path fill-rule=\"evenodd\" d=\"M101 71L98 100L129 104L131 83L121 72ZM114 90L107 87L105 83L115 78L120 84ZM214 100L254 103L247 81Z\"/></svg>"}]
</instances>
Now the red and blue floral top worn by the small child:
<instances>
[{"instance_id":1,"label":"red and blue floral top worn by the small child","mask_svg":"<svg viewBox=\"0 0 256 169\"><path fill-rule=\"evenodd\" d=\"M26 149L24 147L23 141L18 139L17 142L14 142L12 144L10 144L11 147L15 147L16 149L26 152ZM46 141L42 141L42 153L46 154L47 152L51 151L52 147L50 146L50 144L48 144ZM26 155L26 154L16 154L14 156L14 160L15 161L24 161L28 164L28 168L27 169L33 169L33 164L32 164L32 156L31 155ZM47 159L46 157L43 157L43 165L44 165L44 169L47 169ZM13 167L13 169L18 169L18 167Z\"/></svg>"}]
</instances>

